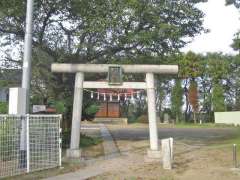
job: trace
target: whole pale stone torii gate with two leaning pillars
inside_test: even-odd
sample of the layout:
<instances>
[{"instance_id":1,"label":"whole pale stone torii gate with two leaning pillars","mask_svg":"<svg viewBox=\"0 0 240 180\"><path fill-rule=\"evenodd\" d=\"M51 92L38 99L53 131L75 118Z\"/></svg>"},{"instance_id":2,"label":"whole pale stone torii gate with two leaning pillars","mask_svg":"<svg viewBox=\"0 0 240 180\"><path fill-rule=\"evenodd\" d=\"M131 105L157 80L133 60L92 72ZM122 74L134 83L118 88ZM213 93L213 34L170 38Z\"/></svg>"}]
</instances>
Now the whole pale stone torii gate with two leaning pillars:
<instances>
[{"instance_id":1,"label":"whole pale stone torii gate with two leaning pillars","mask_svg":"<svg viewBox=\"0 0 240 180\"><path fill-rule=\"evenodd\" d=\"M120 67L124 73L144 73L145 82L122 82L118 85L110 85L108 82L84 81L84 73L108 73L110 67ZM156 95L154 86L154 74L177 74L177 65L116 65L116 64L52 64L52 72L56 73L76 73L74 102L72 114L71 144L67 150L70 158L79 158L81 150L80 124L82 117L82 101L84 88L111 88L111 89L146 89L148 98L148 119L150 149L147 152L149 158L160 158L158 145L158 131L156 120Z\"/></svg>"}]
</instances>

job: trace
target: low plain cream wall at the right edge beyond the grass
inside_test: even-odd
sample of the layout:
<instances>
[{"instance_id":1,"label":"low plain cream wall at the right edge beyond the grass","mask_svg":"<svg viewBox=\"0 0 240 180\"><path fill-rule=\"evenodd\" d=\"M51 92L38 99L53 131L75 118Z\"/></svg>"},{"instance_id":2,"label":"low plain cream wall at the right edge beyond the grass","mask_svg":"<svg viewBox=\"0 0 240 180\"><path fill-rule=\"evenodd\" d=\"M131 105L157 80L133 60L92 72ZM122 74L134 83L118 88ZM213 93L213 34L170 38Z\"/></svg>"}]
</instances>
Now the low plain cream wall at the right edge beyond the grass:
<instances>
[{"instance_id":1,"label":"low plain cream wall at the right edge beyond the grass","mask_svg":"<svg viewBox=\"0 0 240 180\"><path fill-rule=\"evenodd\" d=\"M215 123L240 125L240 111L215 112Z\"/></svg>"}]
</instances>

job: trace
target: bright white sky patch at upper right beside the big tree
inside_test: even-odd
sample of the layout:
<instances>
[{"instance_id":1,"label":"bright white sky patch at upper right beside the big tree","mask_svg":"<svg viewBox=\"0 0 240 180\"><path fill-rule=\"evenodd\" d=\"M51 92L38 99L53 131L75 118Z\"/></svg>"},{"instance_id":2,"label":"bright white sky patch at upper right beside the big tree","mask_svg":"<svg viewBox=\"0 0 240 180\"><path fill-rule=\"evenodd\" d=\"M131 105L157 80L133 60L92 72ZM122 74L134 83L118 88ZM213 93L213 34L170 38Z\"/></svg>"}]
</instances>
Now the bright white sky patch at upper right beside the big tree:
<instances>
[{"instance_id":1,"label":"bright white sky patch at upper right beside the big tree","mask_svg":"<svg viewBox=\"0 0 240 180\"><path fill-rule=\"evenodd\" d=\"M236 53L230 45L240 30L240 12L234 6L225 6L225 0L209 0L198 7L205 13L204 27L210 33L196 36L183 51Z\"/></svg>"}]
</instances>

